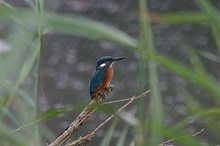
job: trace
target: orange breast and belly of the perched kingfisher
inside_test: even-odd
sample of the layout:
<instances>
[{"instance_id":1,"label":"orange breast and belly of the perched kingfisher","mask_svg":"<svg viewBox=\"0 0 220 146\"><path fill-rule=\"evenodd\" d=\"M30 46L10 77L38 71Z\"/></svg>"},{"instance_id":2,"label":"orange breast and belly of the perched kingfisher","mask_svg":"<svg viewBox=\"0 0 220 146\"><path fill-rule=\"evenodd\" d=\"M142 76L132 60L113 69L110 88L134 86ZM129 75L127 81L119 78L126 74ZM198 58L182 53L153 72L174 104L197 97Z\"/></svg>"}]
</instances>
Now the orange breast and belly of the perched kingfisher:
<instances>
[{"instance_id":1,"label":"orange breast and belly of the perched kingfisher","mask_svg":"<svg viewBox=\"0 0 220 146\"><path fill-rule=\"evenodd\" d=\"M93 92L93 97L96 96L96 94L104 89L105 87L107 87L111 80L112 80L112 77L113 77L113 68L112 67L108 67L106 69L106 74L105 74L105 77L104 77L104 81L98 86L98 88Z\"/></svg>"}]
</instances>

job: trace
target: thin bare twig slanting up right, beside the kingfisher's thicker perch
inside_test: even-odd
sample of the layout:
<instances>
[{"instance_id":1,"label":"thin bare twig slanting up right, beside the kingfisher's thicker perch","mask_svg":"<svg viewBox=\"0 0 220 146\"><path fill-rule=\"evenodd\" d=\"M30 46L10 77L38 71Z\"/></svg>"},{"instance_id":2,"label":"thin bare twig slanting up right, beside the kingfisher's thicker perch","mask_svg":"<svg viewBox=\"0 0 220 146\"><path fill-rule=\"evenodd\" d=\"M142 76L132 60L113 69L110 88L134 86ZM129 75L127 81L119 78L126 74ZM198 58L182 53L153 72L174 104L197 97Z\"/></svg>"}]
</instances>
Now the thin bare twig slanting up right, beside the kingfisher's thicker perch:
<instances>
[{"instance_id":1,"label":"thin bare twig slanting up right, beside the kingfisher's thicker perch","mask_svg":"<svg viewBox=\"0 0 220 146\"><path fill-rule=\"evenodd\" d=\"M125 107L127 107L129 104L131 104L134 100L138 99L138 98L142 98L145 97L147 95L147 93L149 93L150 90L144 92L143 94L139 95L139 96L133 96L131 98L125 99L125 100L118 100L117 102L121 102L121 101L127 101L128 102L126 104L124 104L120 109L118 109L115 113L113 113L109 118L107 118L104 122L102 122L95 130L93 130L92 132L90 132L89 134L87 134L84 137L79 137L77 140L73 141L72 143L67 144L67 146L77 146L80 145L82 143L86 143L91 141L91 139L94 137L95 133L102 128L107 122L109 122L115 115L117 115L122 109L124 109ZM113 103L113 102L109 102L109 103Z\"/></svg>"}]
</instances>

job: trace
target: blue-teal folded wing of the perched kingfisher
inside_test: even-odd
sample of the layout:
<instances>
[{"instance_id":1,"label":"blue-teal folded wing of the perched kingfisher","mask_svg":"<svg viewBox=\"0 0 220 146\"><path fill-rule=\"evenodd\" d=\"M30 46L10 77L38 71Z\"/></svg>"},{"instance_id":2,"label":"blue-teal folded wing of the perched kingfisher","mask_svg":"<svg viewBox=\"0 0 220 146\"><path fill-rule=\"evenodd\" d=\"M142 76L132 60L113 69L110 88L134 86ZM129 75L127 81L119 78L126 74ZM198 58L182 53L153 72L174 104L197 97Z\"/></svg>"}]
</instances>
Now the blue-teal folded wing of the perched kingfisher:
<instances>
[{"instance_id":1,"label":"blue-teal folded wing of the perched kingfisher","mask_svg":"<svg viewBox=\"0 0 220 146\"><path fill-rule=\"evenodd\" d=\"M105 79L105 69L95 70L90 81L89 90L92 94Z\"/></svg>"}]
</instances>

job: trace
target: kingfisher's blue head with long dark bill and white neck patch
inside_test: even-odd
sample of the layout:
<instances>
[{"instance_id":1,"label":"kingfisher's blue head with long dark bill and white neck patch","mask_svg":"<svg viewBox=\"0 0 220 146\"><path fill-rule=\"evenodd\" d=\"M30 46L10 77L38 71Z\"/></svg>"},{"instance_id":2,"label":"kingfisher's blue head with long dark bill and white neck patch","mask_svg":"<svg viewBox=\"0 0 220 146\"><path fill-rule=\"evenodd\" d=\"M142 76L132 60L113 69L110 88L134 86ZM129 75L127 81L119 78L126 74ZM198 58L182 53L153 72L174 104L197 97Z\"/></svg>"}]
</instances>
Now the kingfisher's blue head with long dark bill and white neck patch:
<instances>
[{"instance_id":1,"label":"kingfisher's blue head with long dark bill and white neck patch","mask_svg":"<svg viewBox=\"0 0 220 146\"><path fill-rule=\"evenodd\" d=\"M111 66L115 61L119 61L125 59L126 57L111 57L111 56L104 56L100 58L97 62L96 69L101 69L103 67Z\"/></svg>"}]
</instances>

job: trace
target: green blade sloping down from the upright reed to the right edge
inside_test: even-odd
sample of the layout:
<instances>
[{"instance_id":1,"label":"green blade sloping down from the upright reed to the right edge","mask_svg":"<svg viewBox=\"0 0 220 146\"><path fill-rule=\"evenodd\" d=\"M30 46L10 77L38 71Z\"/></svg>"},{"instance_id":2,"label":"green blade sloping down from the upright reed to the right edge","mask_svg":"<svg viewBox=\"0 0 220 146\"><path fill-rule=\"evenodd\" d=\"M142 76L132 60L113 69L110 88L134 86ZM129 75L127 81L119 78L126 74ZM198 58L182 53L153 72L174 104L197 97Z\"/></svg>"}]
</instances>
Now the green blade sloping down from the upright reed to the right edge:
<instances>
[{"instance_id":1,"label":"green blade sloping down from the upright reed to the right edge","mask_svg":"<svg viewBox=\"0 0 220 146\"><path fill-rule=\"evenodd\" d=\"M190 68L177 60L173 60L165 55L160 53L152 53L151 57L142 55L145 59L149 59L163 67L167 70L179 75L183 79L195 84L199 87L202 87L210 94L212 94L217 102L220 102L220 83L219 80L213 79L212 76L206 72L198 72L193 68Z\"/></svg>"}]
</instances>

